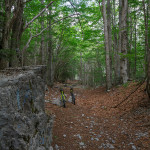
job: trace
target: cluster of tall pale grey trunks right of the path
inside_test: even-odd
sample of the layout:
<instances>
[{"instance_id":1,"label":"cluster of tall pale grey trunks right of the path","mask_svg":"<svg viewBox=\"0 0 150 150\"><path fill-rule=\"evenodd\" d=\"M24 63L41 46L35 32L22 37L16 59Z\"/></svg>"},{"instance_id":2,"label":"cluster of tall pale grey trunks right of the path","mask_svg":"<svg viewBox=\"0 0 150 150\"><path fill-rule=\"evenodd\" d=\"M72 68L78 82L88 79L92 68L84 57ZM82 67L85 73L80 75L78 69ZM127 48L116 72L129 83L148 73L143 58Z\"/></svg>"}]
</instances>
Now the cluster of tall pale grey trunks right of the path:
<instances>
[{"instance_id":1,"label":"cluster of tall pale grey trunks right of the path","mask_svg":"<svg viewBox=\"0 0 150 150\"><path fill-rule=\"evenodd\" d=\"M105 48L106 48L106 84L107 89L111 88L112 83L112 33L111 33L111 4L110 0L107 1L107 13L105 0L102 1L103 6L103 21L104 21L104 36L105 36ZM115 4L114 4L115 7ZM114 12L115 13L115 12ZM118 48L115 46L114 53L117 58L114 61L116 64L115 75L118 81L126 83L128 81L127 73L127 46L128 46L128 37L127 37L127 14L128 14L128 1L119 0L119 43ZM114 18L115 19L115 18ZM114 23L115 24L115 23ZM116 35L115 37L116 38ZM116 40L116 39L115 39ZM115 41L116 42L116 41ZM115 43L116 44L116 43ZM116 52L118 49L118 52ZM120 57L119 57L120 55ZM119 58L120 60L118 60ZM119 67L119 68L117 68ZM119 75L120 73L120 75ZM119 79L120 78L120 79Z\"/></svg>"}]
</instances>

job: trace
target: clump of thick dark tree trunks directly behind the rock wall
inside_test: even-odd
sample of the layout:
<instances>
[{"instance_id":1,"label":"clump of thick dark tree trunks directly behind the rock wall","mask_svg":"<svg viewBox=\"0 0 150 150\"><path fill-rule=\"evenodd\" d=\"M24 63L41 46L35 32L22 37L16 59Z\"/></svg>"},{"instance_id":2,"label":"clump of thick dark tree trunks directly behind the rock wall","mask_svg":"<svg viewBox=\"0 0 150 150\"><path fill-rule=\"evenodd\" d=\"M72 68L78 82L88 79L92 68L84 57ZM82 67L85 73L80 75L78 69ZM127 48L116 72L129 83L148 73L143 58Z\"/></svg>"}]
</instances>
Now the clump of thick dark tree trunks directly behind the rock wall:
<instances>
[{"instance_id":1,"label":"clump of thick dark tree trunks directly behind the rock wall","mask_svg":"<svg viewBox=\"0 0 150 150\"><path fill-rule=\"evenodd\" d=\"M1 6L4 7L2 12L4 19L2 23L1 54L3 52L8 54L7 59L4 57L1 58L1 68L21 65L21 62L19 62L22 57L20 42L23 32L53 3L53 1L51 1L37 16L35 15L27 23L23 18L23 13L28 2L30 1L5 0L1 2Z\"/></svg>"}]
</instances>

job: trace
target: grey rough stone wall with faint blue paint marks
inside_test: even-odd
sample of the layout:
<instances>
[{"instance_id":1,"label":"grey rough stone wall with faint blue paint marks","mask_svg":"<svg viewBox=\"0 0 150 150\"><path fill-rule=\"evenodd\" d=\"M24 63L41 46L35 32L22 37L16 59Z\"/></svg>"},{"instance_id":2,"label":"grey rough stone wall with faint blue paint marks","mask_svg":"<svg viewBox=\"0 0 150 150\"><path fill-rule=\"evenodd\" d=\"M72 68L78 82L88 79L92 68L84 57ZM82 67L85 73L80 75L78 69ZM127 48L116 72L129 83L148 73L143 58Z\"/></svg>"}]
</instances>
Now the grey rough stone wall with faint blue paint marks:
<instances>
[{"instance_id":1,"label":"grey rough stone wall with faint blue paint marks","mask_svg":"<svg viewBox=\"0 0 150 150\"><path fill-rule=\"evenodd\" d=\"M46 67L0 73L0 150L49 150L53 118L44 111Z\"/></svg>"}]
</instances>

